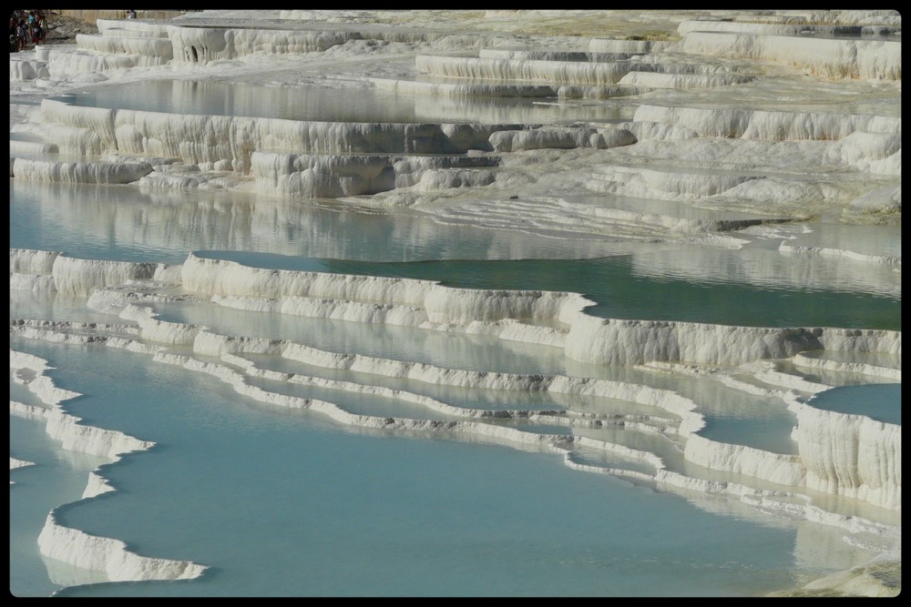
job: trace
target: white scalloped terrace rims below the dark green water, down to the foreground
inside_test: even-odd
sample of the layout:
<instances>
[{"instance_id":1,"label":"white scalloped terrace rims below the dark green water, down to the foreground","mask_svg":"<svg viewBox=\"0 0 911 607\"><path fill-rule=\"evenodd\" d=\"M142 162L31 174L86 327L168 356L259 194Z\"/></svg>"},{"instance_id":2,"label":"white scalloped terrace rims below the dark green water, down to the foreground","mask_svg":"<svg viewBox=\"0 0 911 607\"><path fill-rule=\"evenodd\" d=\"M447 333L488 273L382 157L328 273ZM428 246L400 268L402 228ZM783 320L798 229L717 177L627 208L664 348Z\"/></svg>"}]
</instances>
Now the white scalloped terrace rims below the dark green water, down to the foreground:
<instances>
[{"instance_id":1,"label":"white scalloped terrace rims below the dark green water, down to the foreground","mask_svg":"<svg viewBox=\"0 0 911 607\"><path fill-rule=\"evenodd\" d=\"M279 354L288 359L299 359L310 365L335 369L352 369L363 372L408 377L437 385L506 390L546 390L554 393L589 394L621 400L630 400L653 407L654 419L679 417L680 421L665 426L663 432L674 432L685 443L684 457L692 463L711 470L736 473L742 478L734 492L743 495L766 495L763 482L787 487L789 495L813 495L816 491L831 492L868 501L876 506L900 510L901 460L900 427L872 422L863 417L824 414L800 401L800 394L810 395L825 386L805 385L793 376L762 370L753 371L755 377L767 384L779 384L785 399L798 413L800 424L793 433L800 455L780 455L763 450L724 444L699 436L703 422L695 402L673 392L649 389L623 382L568 378L564 376L523 377L489 372L441 369L427 364L403 363L394 359L375 359L356 355L333 354L302 344L276 339L239 338L222 336L200 326L162 321L150 309L141 305L138 293L154 292L157 288L179 286L183 293L191 294L231 308L269 310L273 313L305 315L316 318L344 319L353 322L389 323L448 332L469 332L498 335L501 339L541 343L566 350L567 356L596 364L636 364L655 361L681 361L684 363L722 364L734 371L750 369L756 361L767 359L795 359L805 350L824 350L855 354L901 353L901 333L895 331L850 329L759 329L669 323L657 321L630 321L592 319L583 311L584 298L571 293L484 291L475 289L450 289L433 282L401 278L374 278L334 275L326 273L294 272L246 268L236 262L218 261L190 256L180 267L167 267L128 262L99 262L70 258L45 251L11 249L11 288L25 285L31 290L65 290L90 295L89 307L118 313L125 320L123 325L96 323L68 323L54 321L13 321L11 334L29 339L46 339L63 343L92 343L111 348L145 351L154 360L179 365L185 369L210 374L229 383L239 393L279 407L311 409L322 412L330 419L344 425L362 428L408 431L443 431L447 434L483 436L486 440L501 441L517 448L548 449L564 452L567 463L576 466L571 457L574 445L578 448L598 448L621 454L630 460L646 462L652 467L655 481L669 486L689 487L694 481L673 470L665 470L660 457L648 452L630 450L620 444L586 439L584 436L541 435L520 430L509 430L487 425L486 418L505 417L547 420L570 427L607 423L590 414L574 410L532 411L513 410L490 412L453 407L445 402L408 395L401 391L347 382L329 382L308 376L288 376L256 369L246 361L244 354ZM24 274L34 272L35 274ZM34 279L48 277L42 281ZM28 279L33 277L33 279ZM130 291L121 288L128 286ZM163 296L167 299L167 296ZM179 298L186 298L180 295ZM161 299L161 297L159 297ZM539 326L536 322L550 321L556 327ZM560 329L559 326L563 326ZM196 354L224 360L229 364L203 362L191 356L169 354L169 346L186 346ZM608 348L608 345L610 346ZM235 369L241 366L244 370ZM739 366L739 367L738 367ZM11 351L11 367L32 368L40 372L44 365L35 357ZM875 365L855 365L851 370L879 372ZM719 380L727 379L725 371ZM388 395L435 411L460 418L445 423L430 420L407 420L354 414L327 401L283 396L250 385L248 377L271 377L313 385L328 385L335 389ZM51 408L43 412L47 432L71 450L82 450L107 457L116 457L128 450L148 448L148 443L132 440L118 432L94 430L78 424L78 420L61 414L55 409L60 400L75 394L56 389L38 375L30 387ZM315 383L314 383L315 382ZM737 385L733 382L732 385ZM745 389L749 390L749 386ZM11 403L11 412L23 406ZM850 420L846 423L844 420ZM649 429L627 421L627 427ZM883 431L883 429L886 431ZM654 430L651 430L654 431ZM825 438L830 435L837 439ZM862 454L857 457L857 454ZM584 469L584 467L583 467ZM621 477L643 477L641 472L630 470L601 470ZM669 473L672 472L672 473ZM750 479L758 484L752 489ZM90 481L96 489L87 489L87 495L104 491L98 479ZM97 487L98 485L100 487ZM713 491L732 491L726 483L707 485ZM771 493L766 500L771 499ZM770 507L763 501L764 507ZM833 524L846 525L846 520L835 519ZM87 538L84 534L67 531L56 524L53 515L48 517L41 546L46 555L73 562L78 566L107 572L111 580L127 579L128 572L136 572L132 579L149 579L149 576L188 576L194 566L173 565L173 569L158 561L138 561L126 569L111 571L107 561L97 554L78 556ZM96 542L96 540L92 540ZM64 545L61 545L64 544ZM94 545L94 544L93 544ZM119 553L122 548L116 541L104 544L104 553ZM88 559L83 561L82 559ZM120 557L118 557L120 559ZM97 560L97 562L96 562ZM131 562L131 559L127 559ZM126 567L126 565L124 566ZM147 571L148 569L148 571ZM120 577L118 577L120 576Z\"/></svg>"}]
</instances>

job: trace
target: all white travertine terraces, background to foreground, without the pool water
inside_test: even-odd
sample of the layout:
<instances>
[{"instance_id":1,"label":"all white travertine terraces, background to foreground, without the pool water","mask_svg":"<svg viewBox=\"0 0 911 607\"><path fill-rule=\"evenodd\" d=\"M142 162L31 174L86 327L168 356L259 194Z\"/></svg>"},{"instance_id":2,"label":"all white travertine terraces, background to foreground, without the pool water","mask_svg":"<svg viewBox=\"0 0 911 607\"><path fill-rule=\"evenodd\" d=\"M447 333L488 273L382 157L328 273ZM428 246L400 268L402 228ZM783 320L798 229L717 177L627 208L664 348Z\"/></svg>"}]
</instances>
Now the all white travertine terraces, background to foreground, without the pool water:
<instances>
[{"instance_id":1,"label":"all white travertine terraces, background to foreground, without the pool water","mask_svg":"<svg viewBox=\"0 0 911 607\"><path fill-rule=\"evenodd\" d=\"M572 11L469 11L458 27L446 11L403 11L395 15L397 26L360 18L389 17L383 11L267 13L276 18L265 24L253 11L203 11L168 21L99 19L98 33L78 35L73 45L11 54L11 187L28 181L152 196L253 194L268 201L251 219L251 230L264 233L292 223L282 205L331 199L333 205L529 238L692 245L691 254L672 261L634 258L639 277L672 273L723 281L730 272L752 285L768 286L773 276L774 288L823 289L837 280L845 290L901 296L900 240L884 243L862 229L901 225L896 11L638 17L579 11L568 31L550 29ZM521 29L523 21L528 31ZM197 114L172 111L167 103L119 107L73 100L93 89L175 79L321 88L340 98L359 91L390 94L414 103L415 120ZM510 115L489 105L503 99L520 100L524 109ZM593 105L616 114L572 117L574 109ZM229 203L225 208L229 212L211 226L207 248L230 248L228 234L241 214ZM57 212L77 223L67 218L67 208ZM208 221L203 215L164 204L138 213L125 204L91 210L91 220L82 223L103 224L117 234L139 224L176 233ZM857 229L851 238L814 240L807 234L812 229L804 229L813 222L833 226L826 234ZM86 238L107 237L99 231ZM900 383L900 329L600 318L589 310L595 302L580 292L257 268L197 248L203 246L186 251L178 263L164 263L11 247L11 297L75 298L99 320L11 318L10 335L128 349L149 364L205 374L243 397L312 410L343 427L485 440L555 453L574 470L660 491L726 496L776 516L834 526L847 541L862 536L900 567L900 524L855 511L900 515L901 426L808 404L815 393L842 383ZM731 271L719 251L742 252L743 268ZM809 260L800 268L813 271L789 269L789 260ZM782 403L796 416L790 435L796 450L779 453L707 437L704 403L675 389L339 353L296 339L163 319L155 309L160 304L420 329L447 339L477 336L552 350L568 367L698 377ZM404 389L280 373L261 368L261 354L445 388L620 400L637 413L609 416L571 406L476 409ZM44 420L47 435L63 449L117 461L153 446L68 414L61 403L79 394L55 385L46 360L11 348L10 368L12 379L41 403L11 398L10 414ZM258 379L401 400L424 413L367 415L330 400L263 389ZM496 420L568 430L520 430ZM645 438L631 447L586 435L607 427ZM656 437L679 446L677 456L651 449ZM583 451L623 463L589 465L579 458ZM10 470L29 465L11 455ZM82 499L107 491L116 489L96 470ZM47 513L38 546L50 559L112 582L189 579L208 567L140 556L123 541L61 524L56 509ZM845 572L805 590L898 592L870 580L866 572Z\"/></svg>"}]
</instances>

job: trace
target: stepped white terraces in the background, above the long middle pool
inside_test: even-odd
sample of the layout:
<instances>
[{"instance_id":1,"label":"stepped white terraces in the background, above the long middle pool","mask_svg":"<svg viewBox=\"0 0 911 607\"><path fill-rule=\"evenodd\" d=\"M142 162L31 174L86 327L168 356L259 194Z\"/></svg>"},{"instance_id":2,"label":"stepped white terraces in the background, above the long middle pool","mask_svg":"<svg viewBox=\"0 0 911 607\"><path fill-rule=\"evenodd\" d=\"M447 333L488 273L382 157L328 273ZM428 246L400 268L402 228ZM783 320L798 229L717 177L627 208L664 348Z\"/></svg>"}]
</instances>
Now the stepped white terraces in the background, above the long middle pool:
<instances>
[{"instance_id":1,"label":"stepped white terraces in the background, above the long middle pool","mask_svg":"<svg viewBox=\"0 0 911 607\"><path fill-rule=\"evenodd\" d=\"M509 50L512 39L503 34L478 34L474 42L461 46L467 43L458 36L441 36L432 30L409 29L391 35L388 30L365 25L320 28L310 22L304 31L296 30L295 20L305 18L302 15L309 13L288 13L280 29L262 30L251 24L240 29L200 27L207 23L205 18L188 18L190 27L176 25L179 20L128 25L99 21L99 35L80 35L76 50L42 47L36 52L42 59L11 59L11 81L79 81L83 79L80 74L97 75L89 80L129 80L143 77L140 75L148 69L139 68L151 68L152 60L173 67L185 63L206 66L212 61L267 55L281 62L341 51L365 41L394 46L399 43L388 38L402 38L409 44L424 41L433 54L419 53L411 66L384 69L379 76L372 72L369 77L357 73L339 77L430 100L440 96L619 99L631 95L637 99L628 106L634 115L630 121L615 124L550 126L462 119L452 123L355 123L193 116L164 109L69 106L44 98L25 125L15 125L16 131L29 131L40 141L11 145L10 176L136 183L159 191L234 187L283 198L379 195L373 204L417 207L446 218L456 212L463 217L482 212L475 210L476 201L465 196L482 188L487 196L509 197L519 189L527 193L523 198L547 195L541 186L553 181L548 181L547 167L525 152L595 148L611 152L578 157L572 167L554 165L558 169L554 175L584 184L596 197L615 194L679 200L687 207L725 207L757 218L770 213L778 218L806 218L837 212L834 209L859 216L855 219L861 221L882 222L890 214L895 217L894 197L879 197L889 203L883 206L865 195L874 187L891 187L899 196L900 104L867 106L869 94L860 81L875 80L877 94L885 100L899 100L900 42L788 36L770 32L786 33L793 24L700 19L681 22L677 37L660 44L592 37L578 41L579 50L551 47L537 55L532 51L523 55ZM812 30L814 25L802 25L802 18L789 19L803 27L802 31ZM888 21L891 16L883 18ZM869 15L867 21L873 19ZM716 23L718 29L713 29ZM557 38L551 44L568 43ZM825 64L827 58L832 58L831 65ZM783 64L781 69L775 68L776 62ZM806 75L806 66L816 71ZM50 76L39 76L47 70ZM109 76L101 76L105 74ZM424 77L432 80L424 81ZM821 95L804 96L795 105L790 101L793 82L801 77L820 78L821 86L832 78L858 82L848 83L848 90L856 89L848 104ZM663 100L667 96L661 95L669 88L686 95L670 96L669 105ZM774 95L776 88L781 88L778 96ZM711 99L719 95L749 96L752 102L718 106ZM763 102L763 95L768 101ZM781 95L788 96L789 102L780 103ZM717 149L712 142L718 137L731 149L725 152L727 174L712 175L699 170L698 163L701 154ZM806 145L791 156L782 155L799 142ZM701 146L705 143L712 145ZM650 170L624 167L657 145L666 166ZM86 159L71 158L79 155ZM609 159L609 164L596 164L596 157ZM781 167L766 164L785 157L788 162ZM706 158L704 164L719 167L717 159ZM855 177L833 182L834 173L864 175L864 185ZM428 194L449 204L427 205ZM528 216L548 218L555 229L567 222L580 228L580 217L571 207L555 209L535 201L523 204L531 205L526 208ZM688 224L668 210L637 217L608 207L599 209L599 218L589 231L630 231L632 225L640 230L638 238L650 238L656 231L667 238L668 230L656 230L656 221L661 228L676 228L670 230L673 234L701 232L705 225L712 225L713 231L743 225Z\"/></svg>"}]
</instances>

